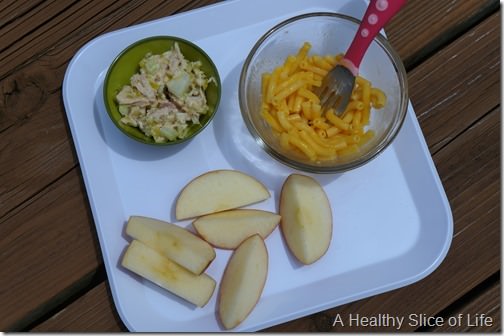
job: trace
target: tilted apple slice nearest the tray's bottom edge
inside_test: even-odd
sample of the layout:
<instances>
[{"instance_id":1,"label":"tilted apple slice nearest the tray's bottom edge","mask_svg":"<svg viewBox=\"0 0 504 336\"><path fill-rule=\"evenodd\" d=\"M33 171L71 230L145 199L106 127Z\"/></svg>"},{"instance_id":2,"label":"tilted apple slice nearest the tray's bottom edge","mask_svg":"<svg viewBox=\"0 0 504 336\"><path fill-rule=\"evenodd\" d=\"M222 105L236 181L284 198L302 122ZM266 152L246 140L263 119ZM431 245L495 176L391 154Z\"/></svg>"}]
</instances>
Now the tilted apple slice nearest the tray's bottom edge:
<instances>
[{"instance_id":1,"label":"tilted apple slice nearest the tray's bottom edge","mask_svg":"<svg viewBox=\"0 0 504 336\"><path fill-rule=\"evenodd\" d=\"M239 325L261 297L268 274L268 251L263 239L253 235L231 255L219 292L218 315L226 329Z\"/></svg>"}]
</instances>

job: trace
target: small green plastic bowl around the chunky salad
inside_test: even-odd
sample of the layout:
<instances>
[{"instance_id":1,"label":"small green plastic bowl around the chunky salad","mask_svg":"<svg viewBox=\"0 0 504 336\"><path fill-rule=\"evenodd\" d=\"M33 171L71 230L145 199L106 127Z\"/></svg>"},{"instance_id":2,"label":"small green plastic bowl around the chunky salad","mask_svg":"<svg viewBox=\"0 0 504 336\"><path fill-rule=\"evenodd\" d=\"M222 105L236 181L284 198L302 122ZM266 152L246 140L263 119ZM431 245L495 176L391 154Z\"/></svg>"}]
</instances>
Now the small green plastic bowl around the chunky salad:
<instances>
[{"instance_id":1,"label":"small green plastic bowl around the chunky salad","mask_svg":"<svg viewBox=\"0 0 504 336\"><path fill-rule=\"evenodd\" d=\"M145 135L139 128L125 125L120 122L122 116L119 113L119 105L115 97L124 85L129 84L131 76L138 72L139 63L147 53L161 54L171 49L175 42L178 42L180 51L186 59L189 61L201 61L201 70L203 70L207 78L215 78L217 85L213 82L209 83L206 89L209 111L200 117L200 124L194 124L189 127L187 137L184 139L157 143L152 137ZM220 96L221 82L219 72L210 57L194 43L173 36L149 37L137 41L124 49L110 65L103 84L105 108L117 128L139 142L158 146L175 145L193 139L214 117L219 106Z\"/></svg>"}]
</instances>

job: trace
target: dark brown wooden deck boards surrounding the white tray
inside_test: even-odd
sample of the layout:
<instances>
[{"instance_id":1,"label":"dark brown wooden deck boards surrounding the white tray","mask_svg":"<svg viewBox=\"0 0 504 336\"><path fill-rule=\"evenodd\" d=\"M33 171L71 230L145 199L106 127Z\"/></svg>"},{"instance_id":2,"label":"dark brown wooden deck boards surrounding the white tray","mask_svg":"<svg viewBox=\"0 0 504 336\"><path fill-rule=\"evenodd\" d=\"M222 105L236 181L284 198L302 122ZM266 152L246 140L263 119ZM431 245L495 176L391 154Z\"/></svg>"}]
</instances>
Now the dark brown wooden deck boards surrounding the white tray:
<instances>
[{"instance_id":1,"label":"dark brown wooden deck boards surrounding the white tray","mask_svg":"<svg viewBox=\"0 0 504 336\"><path fill-rule=\"evenodd\" d=\"M107 283L62 102L73 55L103 33L217 1L0 1L0 317L4 331L124 331ZM337 314L485 314L501 331L501 13L495 0L410 0L386 27L454 217L448 256L404 288L266 331L333 326Z\"/></svg>"}]
</instances>

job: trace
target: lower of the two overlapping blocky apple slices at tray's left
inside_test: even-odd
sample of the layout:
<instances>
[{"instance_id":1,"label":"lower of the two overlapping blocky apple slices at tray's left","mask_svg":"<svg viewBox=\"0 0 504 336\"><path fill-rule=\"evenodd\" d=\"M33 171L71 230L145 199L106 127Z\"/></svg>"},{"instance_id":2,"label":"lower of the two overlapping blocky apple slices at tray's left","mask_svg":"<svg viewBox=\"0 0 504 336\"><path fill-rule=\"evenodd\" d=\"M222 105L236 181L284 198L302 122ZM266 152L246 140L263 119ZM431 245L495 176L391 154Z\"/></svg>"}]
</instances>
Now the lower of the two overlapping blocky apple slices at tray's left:
<instances>
[{"instance_id":1,"label":"lower of the two overlapping blocky apple slices at tray's left","mask_svg":"<svg viewBox=\"0 0 504 336\"><path fill-rule=\"evenodd\" d=\"M138 240L128 246L122 266L198 307L207 304L215 290L215 280L208 275L191 273Z\"/></svg>"}]
</instances>

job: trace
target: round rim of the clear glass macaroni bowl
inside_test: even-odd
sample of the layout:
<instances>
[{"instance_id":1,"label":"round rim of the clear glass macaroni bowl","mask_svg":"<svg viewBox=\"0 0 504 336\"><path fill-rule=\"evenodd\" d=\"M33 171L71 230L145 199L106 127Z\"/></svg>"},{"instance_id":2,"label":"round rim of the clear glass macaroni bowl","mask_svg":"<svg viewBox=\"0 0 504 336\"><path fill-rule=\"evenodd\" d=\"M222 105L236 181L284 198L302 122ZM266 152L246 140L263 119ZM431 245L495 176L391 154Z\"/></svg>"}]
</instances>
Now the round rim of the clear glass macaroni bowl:
<instances>
[{"instance_id":1,"label":"round rim of the clear glass macaroni bowl","mask_svg":"<svg viewBox=\"0 0 504 336\"><path fill-rule=\"evenodd\" d=\"M364 164L368 163L369 161L373 160L376 158L380 153L382 153L397 137L397 134L399 133L399 130L402 128L402 125L404 123L404 120L406 118L406 114L408 111L408 102L409 102L409 96L408 96L408 81L407 81L407 73L406 69L404 68L404 64L399 56L399 54L394 50L394 48L390 45L388 40L382 35L378 34L375 38L374 41L378 43L378 45L383 49L383 51L386 53L388 58L390 59L392 66L395 68L396 72L398 73L398 81L399 85L403 90L401 90L401 95L400 95L400 103L399 103L399 114L398 114L398 122L396 122L392 129L389 132L388 136L388 141L381 141L378 146L374 147L372 150L370 150L366 155L364 156L359 156L356 160L351 160L345 163L342 163L337 166L317 166L317 165L311 165L309 163L302 163L299 161L294 161L281 153L277 152L274 150L264 139L262 138L261 134L257 131L256 127L250 121L250 118L247 116L246 111L246 94L244 92L245 86L246 86L246 78L247 78L247 73L251 64L252 59L256 56L256 53L258 49L262 46L264 41L266 41L270 36L275 34L276 32L280 31L283 27L294 23L296 21L304 20L304 19L311 19L311 18L320 18L320 17L329 17L329 18L336 18L336 19L343 19L349 22L353 22L354 24L357 25L357 27L361 24L361 20L358 20L352 16L341 14L341 13L332 13L332 12L311 12L311 13L305 13L305 14L300 14L293 16L291 18L288 18L275 26L273 26L271 29L269 29L266 33L264 33L254 44L252 47L251 51L249 52L247 58L245 59L245 62L243 63L242 70L240 73L240 80L239 80L239 88L238 88L238 100L239 100L239 105L240 105L240 111L242 114L242 118L245 121L245 125L247 126L249 132L251 133L252 137L255 139L255 141L259 144L259 146L266 152L268 153L271 157L279 161L280 163L287 165L291 168L295 168L301 171L309 172L309 173L323 173L323 174L332 174L332 173L342 173L345 171L349 171L355 168L358 168L360 166L363 166Z\"/></svg>"}]
</instances>

